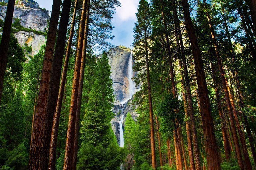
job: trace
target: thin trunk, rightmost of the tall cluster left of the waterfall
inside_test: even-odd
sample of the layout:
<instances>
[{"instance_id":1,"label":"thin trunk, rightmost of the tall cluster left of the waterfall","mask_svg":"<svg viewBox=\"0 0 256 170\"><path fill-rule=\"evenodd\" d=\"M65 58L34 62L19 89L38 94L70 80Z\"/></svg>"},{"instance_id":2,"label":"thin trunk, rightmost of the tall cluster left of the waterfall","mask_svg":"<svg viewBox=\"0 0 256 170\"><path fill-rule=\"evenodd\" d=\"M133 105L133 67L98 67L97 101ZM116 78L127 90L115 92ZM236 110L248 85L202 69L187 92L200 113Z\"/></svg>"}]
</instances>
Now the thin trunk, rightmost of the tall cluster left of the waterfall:
<instances>
[{"instance_id":1,"label":"thin trunk, rightmost of the tall cluster left of the waterfall","mask_svg":"<svg viewBox=\"0 0 256 170\"><path fill-rule=\"evenodd\" d=\"M77 151L78 151L78 135L79 135L79 126L80 126L80 114L81 114L81 101L82 101L82 92L83 92L83 83L84 83L84 67L85 67L85 58L86 58L86 48L87 48L87 37L89 29L89 15L90 15L90 0L87 3L86 9L86 19L85 19L85 32L84 32L84 41L83 41L83 51L81 59L81 69L79 77L79 88L78 88L78 97L77 97L77 108L76 108L76 117L75 117L75 138L74 138L74 153L73 153L73 169L76 169L77 162Z\"/></svg>"}]
</instances>

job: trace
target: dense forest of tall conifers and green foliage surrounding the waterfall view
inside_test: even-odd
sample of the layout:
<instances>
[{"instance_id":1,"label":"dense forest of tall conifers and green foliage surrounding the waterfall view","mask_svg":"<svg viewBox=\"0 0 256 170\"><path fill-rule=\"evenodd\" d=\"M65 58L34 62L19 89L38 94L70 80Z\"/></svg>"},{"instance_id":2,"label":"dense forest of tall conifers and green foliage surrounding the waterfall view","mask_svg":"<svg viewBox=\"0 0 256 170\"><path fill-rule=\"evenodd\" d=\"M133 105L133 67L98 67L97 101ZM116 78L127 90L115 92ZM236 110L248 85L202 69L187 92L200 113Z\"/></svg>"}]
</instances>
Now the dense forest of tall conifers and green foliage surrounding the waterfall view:
<instances>
[{"instance_id":1,"label":"dense forest of tall conifers and green foliage surrounding the waterfall view","mask_svg":"<svg viewBox=\"0 0 256 170\"><path fill-rule=\"evenodd\" d=\"M256 169L256 1L138 2L123 147L107 56L122 4L53 0L38 33L0 2L0 170ZM33 57L19 30L46 37Z\"/></svg>"}]
</instances>

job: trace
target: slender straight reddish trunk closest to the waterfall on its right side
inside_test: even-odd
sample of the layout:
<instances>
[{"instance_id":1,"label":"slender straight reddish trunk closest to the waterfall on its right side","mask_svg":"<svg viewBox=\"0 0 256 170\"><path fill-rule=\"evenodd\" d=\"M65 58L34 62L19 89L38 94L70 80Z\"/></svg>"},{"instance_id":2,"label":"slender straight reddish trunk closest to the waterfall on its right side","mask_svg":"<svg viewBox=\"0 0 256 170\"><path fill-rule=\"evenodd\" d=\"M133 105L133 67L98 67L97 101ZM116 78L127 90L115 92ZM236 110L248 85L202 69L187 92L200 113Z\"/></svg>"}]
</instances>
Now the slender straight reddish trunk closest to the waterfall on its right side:
<instances>
[{"instance_id":1,"label":"slender straight reddish trunk closest to the waterfall on its right side","mask_svg":"<svg viewBox=\"0 0 256 170\"><path fill-rule=\"evenodd\" d=\"M147 84L148 84L151 158L152 158L152 168L155 170L157 169L157 163L156 163L156 153L155 153L154 117L153 117L153 108L152 108L152 93L151 93L151 84L150 84L148 43L147 43L146 29L144 30L144 41L145 41L145 51L146 51L146 71L147 71Z\"/></svg>"}]
</instances>

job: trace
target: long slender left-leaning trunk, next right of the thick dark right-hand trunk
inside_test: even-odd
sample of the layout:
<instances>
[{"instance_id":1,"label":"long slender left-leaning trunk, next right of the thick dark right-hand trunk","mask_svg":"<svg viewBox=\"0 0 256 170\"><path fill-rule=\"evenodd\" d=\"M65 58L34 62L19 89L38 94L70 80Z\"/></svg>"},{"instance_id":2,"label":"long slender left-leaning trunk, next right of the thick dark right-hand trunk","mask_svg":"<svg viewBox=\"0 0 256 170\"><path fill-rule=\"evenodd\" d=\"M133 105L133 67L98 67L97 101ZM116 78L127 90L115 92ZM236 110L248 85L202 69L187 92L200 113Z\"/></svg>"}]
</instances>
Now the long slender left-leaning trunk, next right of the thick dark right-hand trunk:
<instances>
[{"instance_id":1,"label":"long slender left-leaning trunk, next right of the thick dark right-hand trunk","mask_svg":"<svg viewBox=\"0 0 256 170\"><path fill-rule=\"evenodd\" d=\"M240 141L241 141L241 144L242 144L243 155L244 155L244 158L245 158L246 169L251 170L252 166L251 166L251 162L250 162L250 159L249 159L249 154L248 154L248 151L247 151L247 146L246 146L244 134L240 129L239 121L236 120L236 115L237 115L236 108L234 106L234 102L233 102L232 95L231 95L231 92L230 92L230 89L229 89L228 81L225 78L224 67L222 66L222 62L221 62L221 59L220 59L218 44L217 44L217 41L215 39L215 30L213 28L209 13L206 13L206 16L207 16L207 19L208 19L208 22L209 22L209 28L210 28L210 31L211 31L211 37L212 37L212 40L213 40L213 45L214 45L214 50L215 50L215 56L217 57L218 66L219 66L219 70L220 70L220 73L221 73L220 77L221 77L223 89L224 89L224 92L225 92L225 99L226 99L228 111L233 112L233 115L235 117L236 126L237 126L237 129L238 129L238 133L239 133L239 136L240 136ZM230 113L230 116L231 116L231 114L232 113ZM234 139L234 140L236 140L236 139ZM236 147L236 150L239 152L239 147ZM242 169L243 168L243 159L242 159L242 156L240 157L240 153L237 153L237 159L238 159L238 164L239 164L240 168Z\"/></svg>"}]
</instances>

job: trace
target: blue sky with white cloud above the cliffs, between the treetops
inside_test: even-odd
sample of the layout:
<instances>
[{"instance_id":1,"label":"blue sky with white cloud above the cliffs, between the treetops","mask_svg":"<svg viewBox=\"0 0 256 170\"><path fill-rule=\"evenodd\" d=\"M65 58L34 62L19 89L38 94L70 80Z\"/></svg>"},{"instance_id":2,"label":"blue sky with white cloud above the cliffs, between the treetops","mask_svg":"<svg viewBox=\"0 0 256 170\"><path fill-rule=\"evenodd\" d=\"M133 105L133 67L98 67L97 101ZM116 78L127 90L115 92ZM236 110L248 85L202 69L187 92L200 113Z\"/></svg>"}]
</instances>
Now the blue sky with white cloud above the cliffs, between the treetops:
<instances>
[{"instance_id":1,"label":"blue sky with white cloud above the cliffs, between the treetops","mask_svg":"<svg viewBox=\"0 0 256 170\"><path fill-rule=\"evenodd\" d=\"M52 10L51 0L36 0L39 7ZM112 25L115 27L112 34L115 35L110 42L114 46L123 45L132 48L133 28L136 22L137 7L139 0L119 0L121 7L116 8L116 13L113 15Z\"/></svg>"}]
</instances>

